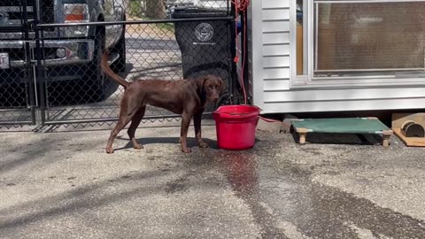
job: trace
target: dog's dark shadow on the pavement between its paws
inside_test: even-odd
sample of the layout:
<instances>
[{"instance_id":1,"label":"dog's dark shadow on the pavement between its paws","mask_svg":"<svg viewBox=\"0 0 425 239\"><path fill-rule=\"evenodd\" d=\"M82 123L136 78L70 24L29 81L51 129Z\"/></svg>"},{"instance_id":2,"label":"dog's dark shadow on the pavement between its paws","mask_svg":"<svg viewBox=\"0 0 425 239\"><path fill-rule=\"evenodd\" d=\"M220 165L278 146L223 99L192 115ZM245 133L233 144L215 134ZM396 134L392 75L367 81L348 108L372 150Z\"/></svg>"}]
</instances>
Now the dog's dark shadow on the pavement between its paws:
<instances>
[{"instance_id":1,"label":"dog's dark shadow on the pavement between its paws","mask_svg":"<svg viewBox=\"0 0 425 239\"><path fill-rule=\"evenodd\" d=\"M117 136L117 139L128 141L128 143L124 147L120 147L114 150L127 150L127 149L133 149L133 144L130 142L129 138L126 136ZM137 143L142 144L143 146L149 145L149 144L174 144L178 145L180 147L180 137L144 137L136 139ZM188 147L194 148L198 147L197 139L195 137L188 137ZM209 149L213 150L219 150L217 147L217 141L211 140L208 138L203 138L204 143L208 144Z\"/></svg>"}]
</instances>

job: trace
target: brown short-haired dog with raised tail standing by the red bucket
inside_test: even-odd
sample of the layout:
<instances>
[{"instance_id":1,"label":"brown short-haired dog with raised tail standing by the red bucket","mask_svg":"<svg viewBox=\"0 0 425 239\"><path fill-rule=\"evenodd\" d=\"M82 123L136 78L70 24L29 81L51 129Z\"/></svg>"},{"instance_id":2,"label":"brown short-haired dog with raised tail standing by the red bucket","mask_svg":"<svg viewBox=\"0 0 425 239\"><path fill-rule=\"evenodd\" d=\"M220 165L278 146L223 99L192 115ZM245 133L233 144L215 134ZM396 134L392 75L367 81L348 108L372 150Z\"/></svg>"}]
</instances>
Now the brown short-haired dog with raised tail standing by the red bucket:
<instances>
[{"instance_id":1,"label":"brown short-haired dog with raised tail standing by the red bucket","mask_svg":"<svg viewBox=\"0 0 425 239\"><path fill-rule=\"evenodd\" d=\"M128 136L135 149L143 149L143 146L135 141L135 129L139 126L146 110L146 104L164 108L170 112L182 114L182 128L180 143L182 151L190 152L186 138L190 120L193 117L195 135L199 147L208 147L201 137L201 117L207 101L215 102L220 96L222 80L220 77L205 75L194 80L162 81L147 80L128 82L114 73L107 63L108 52L102 56L102 71L124 87L124 96L120 104L120 118L113 128L106 152L112 153L112 143L120 130L131 120L128 127Z\"/></svg>"}]
</instances>

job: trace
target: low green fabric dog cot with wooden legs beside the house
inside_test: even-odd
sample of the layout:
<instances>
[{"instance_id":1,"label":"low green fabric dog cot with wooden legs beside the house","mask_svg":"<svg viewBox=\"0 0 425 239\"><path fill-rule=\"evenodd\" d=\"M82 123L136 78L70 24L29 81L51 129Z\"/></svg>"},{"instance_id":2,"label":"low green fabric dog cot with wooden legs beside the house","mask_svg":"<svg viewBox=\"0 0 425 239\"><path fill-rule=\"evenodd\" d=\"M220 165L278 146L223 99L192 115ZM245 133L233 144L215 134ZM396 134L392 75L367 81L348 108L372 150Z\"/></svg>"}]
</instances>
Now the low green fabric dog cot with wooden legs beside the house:
<instances>
[{"instance_id":1,"label":"low green fabric dog cot with wooden legs beside the house","mask_svg":"<svg viewBox=\"0 0 425 239\"><path fill-rule=\"evenodd\" d=\"M292 120L292 126L299 135L300 144L306 143L308 133L374 134L383 135L383 147L388 147L390 136L393 134L389 127L376 118Z\"/></svg>"}]
</instances>

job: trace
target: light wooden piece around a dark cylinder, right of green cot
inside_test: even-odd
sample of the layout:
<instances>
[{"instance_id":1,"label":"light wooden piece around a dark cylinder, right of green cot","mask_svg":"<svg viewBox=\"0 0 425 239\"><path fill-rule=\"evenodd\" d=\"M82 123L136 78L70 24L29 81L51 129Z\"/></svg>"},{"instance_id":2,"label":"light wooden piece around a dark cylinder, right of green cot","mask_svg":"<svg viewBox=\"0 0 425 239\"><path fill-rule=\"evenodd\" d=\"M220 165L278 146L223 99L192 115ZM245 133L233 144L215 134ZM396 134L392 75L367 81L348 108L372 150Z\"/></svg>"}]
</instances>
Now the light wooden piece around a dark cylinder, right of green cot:
<instances>
[{"instance_id":1,"label":"light wooden piece around a dark cylinder, right of green cot","mask_svg":"<svg viewBox=\"0 0 425 239\"><path fill-rule=\"evenodd\" d=\"M425 147L425 138L406 137L406 135L403 134L401 127L403 127L406 121L414 121L422 127L425 127L425 113L393 113L391 120L391 128L394 134L397 135L406 146Z\"/></svg>"}]
</instances>

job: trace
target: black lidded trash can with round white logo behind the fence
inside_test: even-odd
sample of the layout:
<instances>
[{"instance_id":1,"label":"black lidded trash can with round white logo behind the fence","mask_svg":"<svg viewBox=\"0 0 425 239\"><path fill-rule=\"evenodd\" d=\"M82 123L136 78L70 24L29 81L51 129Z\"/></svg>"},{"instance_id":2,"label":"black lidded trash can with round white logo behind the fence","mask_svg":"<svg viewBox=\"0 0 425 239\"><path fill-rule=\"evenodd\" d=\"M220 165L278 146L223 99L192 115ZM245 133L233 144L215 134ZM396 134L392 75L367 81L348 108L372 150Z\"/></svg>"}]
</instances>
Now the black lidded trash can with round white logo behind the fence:
<instances>
[{"instance_id":1,"label":"black lidded trash can with round white logo behind the fence","mask_svg":"<svg viewBox=\"0 0 425 239\"><path fill-rule=\"evenodd\" d=\"M235 57L235 27L227 17L227 10L181 7L172 13L173 19L212 18L205 21L174 23L175 38L182 51L183 77L197 78L212 73L219 75L230 86Z\"/></svg>"}]
</instances>

